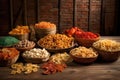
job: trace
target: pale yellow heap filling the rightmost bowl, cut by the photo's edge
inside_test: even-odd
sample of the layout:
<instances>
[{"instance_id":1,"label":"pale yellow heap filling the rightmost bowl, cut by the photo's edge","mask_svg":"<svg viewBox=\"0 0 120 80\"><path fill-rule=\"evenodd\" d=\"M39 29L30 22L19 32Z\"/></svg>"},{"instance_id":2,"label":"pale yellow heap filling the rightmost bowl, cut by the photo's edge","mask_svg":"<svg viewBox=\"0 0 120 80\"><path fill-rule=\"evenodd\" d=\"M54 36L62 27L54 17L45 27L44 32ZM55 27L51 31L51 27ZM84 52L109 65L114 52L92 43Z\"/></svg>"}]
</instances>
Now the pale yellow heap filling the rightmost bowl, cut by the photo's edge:
<instances>
[{"instance_id":1,"label":"pale yellow heap filling the rightmost bowl, cut by the photo's edge","mask_svg":"<svg viewBox=\"0 0 120 80\"><path fill-rule=\"evenodd\" d=\"M110 39L103 39L93 43L93 47L104 51L120 51L120 43Z\"/></svg>"}]
</instances>

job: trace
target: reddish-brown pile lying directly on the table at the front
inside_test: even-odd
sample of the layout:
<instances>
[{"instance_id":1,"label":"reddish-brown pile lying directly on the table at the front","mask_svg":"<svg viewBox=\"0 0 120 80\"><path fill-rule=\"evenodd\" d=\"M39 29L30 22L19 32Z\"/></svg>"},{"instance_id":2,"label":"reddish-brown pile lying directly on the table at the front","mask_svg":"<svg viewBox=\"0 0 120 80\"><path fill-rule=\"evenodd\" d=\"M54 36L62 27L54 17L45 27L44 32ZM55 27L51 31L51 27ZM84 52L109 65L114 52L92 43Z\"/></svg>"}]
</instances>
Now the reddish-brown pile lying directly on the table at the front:
<instances>
[{"instance_id":1,"label":"reddish-brown pile lying directly on the table at the front","mask_svg":"<svg viewBox=\"0 0 120 80\"><path fill-rule=\"evenodd\" d=\"M47 62L41 66L41 68L45 70L43 74L46 75L62 72L66 67L66 64L55 64L54 62Z\"/></svg>"}]
</instances>

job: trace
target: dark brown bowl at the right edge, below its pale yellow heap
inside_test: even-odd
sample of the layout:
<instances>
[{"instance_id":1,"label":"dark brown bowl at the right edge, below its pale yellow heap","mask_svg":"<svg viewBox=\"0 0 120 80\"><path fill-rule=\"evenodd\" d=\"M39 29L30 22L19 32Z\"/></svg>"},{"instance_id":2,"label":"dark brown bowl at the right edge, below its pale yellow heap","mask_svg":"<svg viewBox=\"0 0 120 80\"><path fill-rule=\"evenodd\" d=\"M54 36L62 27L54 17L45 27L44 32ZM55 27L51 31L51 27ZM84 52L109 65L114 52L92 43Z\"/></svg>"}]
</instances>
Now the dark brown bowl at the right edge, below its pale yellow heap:
<instances>
[{"instance_id":1,"label":"dark brown bowl at the right edge, below its pale yellow heap","mask_svg":"<svg viewBox=\"0 0 120 80\"><path fill-rule=\"evenodd\" d=\"M94 47L93 47L94 48ZM113 62L113 61L116 61L118 58L119 58L119 54L120 54L120 51L104 51L104 50L99 50L99 49L96 49L94 48L99 56L98 56L98 60L99 61L105 61L105 62Z\"/></svg>"}]
</instances>

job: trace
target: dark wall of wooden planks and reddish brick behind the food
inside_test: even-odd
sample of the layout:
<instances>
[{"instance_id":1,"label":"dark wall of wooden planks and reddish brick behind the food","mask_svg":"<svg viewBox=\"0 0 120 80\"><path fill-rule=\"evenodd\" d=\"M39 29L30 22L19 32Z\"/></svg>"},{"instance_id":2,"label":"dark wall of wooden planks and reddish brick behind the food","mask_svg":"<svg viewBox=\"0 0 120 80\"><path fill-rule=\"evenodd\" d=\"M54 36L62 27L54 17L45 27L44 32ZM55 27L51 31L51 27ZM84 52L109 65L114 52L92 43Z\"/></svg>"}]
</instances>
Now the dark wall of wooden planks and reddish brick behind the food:
<instances>
[{"instance_id":1,"label":"dark wall of wooden planks and reddish brick behind the food","mask_svg":"<svg viewBox=\"0 0 120 80\"><path fill-rule=\"evenodd\" d=\"M58 32L73 26L105 36L120 35L120 0L0 0L0 36L17 25L49 21Z\"/></svg>"}]
</instances>

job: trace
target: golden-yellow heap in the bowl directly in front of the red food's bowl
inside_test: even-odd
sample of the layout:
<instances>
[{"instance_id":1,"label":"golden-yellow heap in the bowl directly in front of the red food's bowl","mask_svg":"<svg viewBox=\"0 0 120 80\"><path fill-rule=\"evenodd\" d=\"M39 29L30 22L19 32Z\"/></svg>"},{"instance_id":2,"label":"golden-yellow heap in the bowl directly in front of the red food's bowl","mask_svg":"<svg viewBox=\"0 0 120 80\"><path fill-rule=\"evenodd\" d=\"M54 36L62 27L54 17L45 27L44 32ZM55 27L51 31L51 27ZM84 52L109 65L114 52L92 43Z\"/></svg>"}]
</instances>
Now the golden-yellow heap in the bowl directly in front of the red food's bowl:
<instances>
[{"instance_id":1,"label":"golden-yellow heap in the bowl directly in front of the red food's bowl","mask_svg":"<svg viewBox=\"0 0 120 80\"><path fill-rule=\"evenodd\" d=\"M97 56L96 52L92 48L82 46L72 49L70 54L79 58L92 58Z\"/></svg>"}]
</instances>

